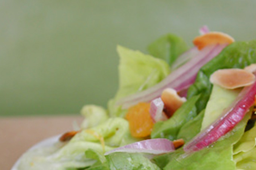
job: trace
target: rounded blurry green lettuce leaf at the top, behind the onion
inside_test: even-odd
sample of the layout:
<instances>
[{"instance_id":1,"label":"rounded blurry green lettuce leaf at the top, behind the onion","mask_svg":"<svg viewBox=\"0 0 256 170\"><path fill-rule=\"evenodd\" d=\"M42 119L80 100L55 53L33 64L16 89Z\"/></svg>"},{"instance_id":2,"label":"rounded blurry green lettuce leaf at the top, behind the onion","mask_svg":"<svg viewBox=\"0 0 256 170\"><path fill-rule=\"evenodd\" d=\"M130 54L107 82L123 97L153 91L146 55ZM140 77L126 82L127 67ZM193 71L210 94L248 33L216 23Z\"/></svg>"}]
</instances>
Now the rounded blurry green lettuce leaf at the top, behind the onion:
<instances>
[{"instance_id":1,"label":"rounded blurry green lettuce leaf at the top, behind the onion","mask_svg":"<svg viewBox=\"0 0 256 170\"><path fill-rule=\"evenodd\" d=\"M186 42L174 34L166 34L148 46L151 55L165 60L170 66L187 49Z\"/></svg>"}]
</instances>

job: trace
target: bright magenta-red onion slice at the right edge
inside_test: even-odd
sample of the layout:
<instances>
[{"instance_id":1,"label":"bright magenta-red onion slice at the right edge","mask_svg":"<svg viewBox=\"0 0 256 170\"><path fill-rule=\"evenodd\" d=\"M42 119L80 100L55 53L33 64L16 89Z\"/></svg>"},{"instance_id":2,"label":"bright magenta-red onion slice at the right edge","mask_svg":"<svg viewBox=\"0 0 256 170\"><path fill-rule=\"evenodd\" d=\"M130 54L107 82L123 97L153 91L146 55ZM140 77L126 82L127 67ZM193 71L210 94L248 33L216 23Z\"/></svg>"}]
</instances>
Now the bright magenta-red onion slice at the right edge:
<instances>
[{"instance_id":1,"label":"bright magenta-red onion slice at the right edge","mask_svg":"<svg viewBox=\"0 0 256 170\"><path fill-rule=\"evenodd\" d=\"M187 143L183 148L184 151L199 151L231 131L253 106L255 95L256 82L251 86L244 87L232 105L224 110L220 118Z\"/></svg>"}]
</instances>

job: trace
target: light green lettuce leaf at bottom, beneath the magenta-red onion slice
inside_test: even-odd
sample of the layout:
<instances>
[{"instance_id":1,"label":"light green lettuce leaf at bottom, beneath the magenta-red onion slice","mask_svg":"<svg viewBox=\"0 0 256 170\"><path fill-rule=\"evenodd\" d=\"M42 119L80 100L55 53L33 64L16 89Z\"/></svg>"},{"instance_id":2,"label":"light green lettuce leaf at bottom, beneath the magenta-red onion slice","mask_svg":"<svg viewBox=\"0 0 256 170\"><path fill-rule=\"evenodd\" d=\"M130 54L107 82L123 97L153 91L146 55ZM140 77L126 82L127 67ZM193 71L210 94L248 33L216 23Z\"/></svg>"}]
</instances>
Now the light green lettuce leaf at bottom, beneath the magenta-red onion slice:
<instances>
[{"instance_id":1,"label":"light green lettuce leaf at bottom, beneath the magenta-red onion slice","mask_svg":"<svg viewBox=\"0 0 256 170\"><path fill-rule=\"evenodd\" d=\"M236 170L233 161L233 145L241 139L250 115L247 114L238 125L213 146L194 152L184 157L184 151L160 155L154 158L155 163L164 170ZM193 128L193 124L190 124ZM189 127L187 127L189 128ZM197 128L198 133L200 128Z\"/></svg>"}]
</instances>

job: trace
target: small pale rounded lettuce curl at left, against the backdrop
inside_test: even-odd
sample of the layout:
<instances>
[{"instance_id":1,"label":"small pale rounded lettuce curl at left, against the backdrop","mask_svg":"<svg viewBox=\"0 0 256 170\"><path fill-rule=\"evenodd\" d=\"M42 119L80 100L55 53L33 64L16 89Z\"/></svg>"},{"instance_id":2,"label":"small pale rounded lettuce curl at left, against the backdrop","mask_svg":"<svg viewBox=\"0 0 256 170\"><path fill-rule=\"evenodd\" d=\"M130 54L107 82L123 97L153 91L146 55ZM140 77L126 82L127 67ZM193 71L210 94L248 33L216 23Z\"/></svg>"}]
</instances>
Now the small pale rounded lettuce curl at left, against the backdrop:
<instances>
[{"instance_id":1,"label":"small pale rounded lettuce curl at left, against the backdrop","mask_svg":"<svg viewBox=\"0 0 256 170\"><path fill-rule=\"evenodd\" d=\"M82 129L95 127L108 119L107 110L93 104L85 105L81 110L81 115L84 116L84 121L81 124Z\"/></svg>"}]
</instances>

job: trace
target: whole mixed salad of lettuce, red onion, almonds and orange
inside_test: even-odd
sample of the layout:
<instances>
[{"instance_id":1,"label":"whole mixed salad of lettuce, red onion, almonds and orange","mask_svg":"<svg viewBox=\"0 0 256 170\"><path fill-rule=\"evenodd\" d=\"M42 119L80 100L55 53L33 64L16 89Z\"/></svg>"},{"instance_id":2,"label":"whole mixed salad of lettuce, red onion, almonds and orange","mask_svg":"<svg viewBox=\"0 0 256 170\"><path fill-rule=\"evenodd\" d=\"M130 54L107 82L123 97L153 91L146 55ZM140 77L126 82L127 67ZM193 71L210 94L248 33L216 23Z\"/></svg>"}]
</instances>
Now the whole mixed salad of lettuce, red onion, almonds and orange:
<instances>
[{"instance_id":1,"label":"whole mixed salad of lettuce, red onion, almonds and orange","mask_svg":"<svg viewBox=\"0 0 256 170\"><path fill-rule=\"evenodd\" d=\"M167 34L149 54L117 46L119 89L107 109L27 151L18 170L255 170L256 41L204 26L188 47Z\"/></svg>"}]
</instances>

